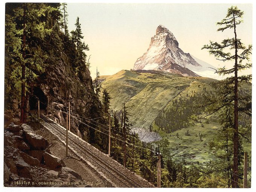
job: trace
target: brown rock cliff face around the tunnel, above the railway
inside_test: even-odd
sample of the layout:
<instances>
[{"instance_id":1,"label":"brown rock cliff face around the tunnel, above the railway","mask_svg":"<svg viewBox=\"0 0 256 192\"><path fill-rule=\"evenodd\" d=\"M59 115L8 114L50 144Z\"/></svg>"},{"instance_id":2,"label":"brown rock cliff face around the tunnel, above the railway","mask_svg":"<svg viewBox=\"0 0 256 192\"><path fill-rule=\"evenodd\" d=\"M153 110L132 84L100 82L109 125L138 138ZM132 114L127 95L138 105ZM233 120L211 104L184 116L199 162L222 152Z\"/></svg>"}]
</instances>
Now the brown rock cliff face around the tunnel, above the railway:
<instances>
[{"instance_id":1,"label":"brown rock cliff face around the tunnel, above the railway","mask_svg":"<svg viewBox=\"0 0 256 192\"><path fill-rule=\"evenodd\" d=\"M40 76L38 82L34 85L33 95L30 96L30 110L36 110L35 97L40 99L40 109L52 117L60 125L66 127L66 110L68 101L70 101L71 109L71 128L70 130L82 137L86 133L82 133L78 121L72 116L86 116L93 118L93 113L100 114L101 104L96 98L93 90L93 83L90 71L86 68L78 77L72 69L68 58L63 54L61 59L54 61L53 65L46 67L43 75ZM49 107L47 108L49 98Z\"/></svg>"}]
</instances>

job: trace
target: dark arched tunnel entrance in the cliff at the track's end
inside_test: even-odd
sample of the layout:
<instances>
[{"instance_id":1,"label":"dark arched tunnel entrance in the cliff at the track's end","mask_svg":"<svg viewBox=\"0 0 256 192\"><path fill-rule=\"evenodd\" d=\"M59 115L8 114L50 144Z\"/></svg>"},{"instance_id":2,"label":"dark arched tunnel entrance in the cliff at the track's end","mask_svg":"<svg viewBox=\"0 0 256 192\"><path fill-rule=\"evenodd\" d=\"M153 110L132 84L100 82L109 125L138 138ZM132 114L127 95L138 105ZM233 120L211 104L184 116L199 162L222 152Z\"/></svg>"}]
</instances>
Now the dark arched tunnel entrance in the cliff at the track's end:
<instances>
[{"instance_id":1,"label":"dark arched tunnel entrance in the cliff at the track's end","mask_svg":"<svg viewBox=\"0 0 256 192\"><path fill-rule=\"evenodd\" d=\"M44 92L38 87L33 88L33 93L29 97L30 110L37 109L37 98L39 98L40 101L40 109L45 110L47 107L47 97L45 96Z\"/></svg>"}]
</instances>

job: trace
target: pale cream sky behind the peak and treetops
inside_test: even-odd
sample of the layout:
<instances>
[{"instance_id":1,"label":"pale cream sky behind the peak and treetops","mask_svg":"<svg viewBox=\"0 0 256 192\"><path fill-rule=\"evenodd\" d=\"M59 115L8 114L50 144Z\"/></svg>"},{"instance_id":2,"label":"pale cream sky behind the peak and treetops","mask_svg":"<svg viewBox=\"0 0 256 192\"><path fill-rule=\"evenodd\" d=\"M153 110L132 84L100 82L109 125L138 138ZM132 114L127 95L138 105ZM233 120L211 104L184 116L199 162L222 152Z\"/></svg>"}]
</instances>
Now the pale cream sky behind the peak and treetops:
<instances>
[{"instance_id":1,"label":"pale cream sky behind the peak and treetops","mask_svg":"<svg viewBox=\"0 0 256 192\"><path fill-rule=\"evenodd\" d=\"M217 32L216 22L226 17L227 9L236 5L244 11L244 23L237 28L238 38L252 44L251 4L117 4L68 3L69 32L79 17L91 55L91 76L96 67L101 75L113 75L122 69L133 69L137 58L149 47L158 25L167 27L186 53L215 67L229 66L201 50L209 40L220 42L233 37L232 30ZM251 73L250 71L245 73Z\"/></svg>"}]
</instances>

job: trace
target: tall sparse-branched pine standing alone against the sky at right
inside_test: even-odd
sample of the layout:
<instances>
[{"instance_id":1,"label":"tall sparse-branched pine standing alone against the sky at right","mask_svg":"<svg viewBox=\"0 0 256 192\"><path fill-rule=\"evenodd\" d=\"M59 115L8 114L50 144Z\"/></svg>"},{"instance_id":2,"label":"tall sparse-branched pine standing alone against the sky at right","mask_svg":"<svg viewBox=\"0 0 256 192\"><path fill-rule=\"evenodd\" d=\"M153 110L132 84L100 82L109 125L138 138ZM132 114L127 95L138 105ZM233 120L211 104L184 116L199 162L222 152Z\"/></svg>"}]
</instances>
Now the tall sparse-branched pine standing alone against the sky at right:
<instances>
[{"instance_id":1,"label":"tall sparse-branched pine standing alone against the sky at right","mask_svg":"<svg viewBox=\"0 0 256 192\"><path fill-rule=\"evenodd\" d=\"M213 54L218 60L221 61L234 61L234 66L231 69L222 67L216 71L219 75L233 74L234 76L227 78L228 84L232 85L233 94L230 96L230 102L234 104L234 121L233 121L233 181L232 187L238 187L238 87L241 82L250 82L251 75L238 76L238 71L243 69L251 68L251 63L243 64L244 60L250 61L250 54L252 46L245 47L241 42L241 39L237 37L236 27L242 22L240 18L244 14L243 11L239 10L236 6L232 6L228 9L226 18L217 24L221 26L218 31L224 31L226 29L232 29L234 33L233 38L227 38L220 44L210 41L209 45L205 45L202 49L208 49L210 54ZM233 54L230 52L224 52L225 49L233 50Z\"/></svg>"}]
</instances>

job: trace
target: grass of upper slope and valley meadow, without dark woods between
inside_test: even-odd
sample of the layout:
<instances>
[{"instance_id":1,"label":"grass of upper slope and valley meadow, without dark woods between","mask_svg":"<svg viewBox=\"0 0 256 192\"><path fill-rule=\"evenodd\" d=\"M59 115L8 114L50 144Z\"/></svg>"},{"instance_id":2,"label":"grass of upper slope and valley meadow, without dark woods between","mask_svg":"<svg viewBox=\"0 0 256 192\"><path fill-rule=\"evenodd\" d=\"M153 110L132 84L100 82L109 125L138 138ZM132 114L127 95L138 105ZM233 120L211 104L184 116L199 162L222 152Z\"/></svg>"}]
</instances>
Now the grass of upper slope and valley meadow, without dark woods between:
<instances>
[{"instance_id":1,"label":"grass of upper slope and valley meadow, without dark woods between","mask_svg":"<svg viewBox=\"0 0 256 192\"><path fill-rule=\"evenodd\" d=\"M183 77L166 72L138 73L128 70L122 70L104 78L102 87L110 93L110 108L120 112L125 102L133 126L146 129L152 125L159 113L172 106L174 99L178 100L180 97L184 99L187 95L195 94L194 92L210 91L209 83L216 81L203 77ZM251 85L244 86L251 88ZM153 123L153 130L163 139L168 139L169 155L174 159L181 161L184 158L188 164L199 162L203 165L216 159L215 152L209 152L208 142L218 137L218 129L221 128L217 123L217 116L207 118L209 124L206 123L206 119L201 119L204 127L201 127L201 123L195 123L194 126L190 125L167 134ZM187 130L190 136L185 136ZM176 136L177 133L179 137ZM202 141L199 133L203 134ZM243 142L243 147L244 151L251 154L251 143Z\"/></svg>"}]
</instances>

